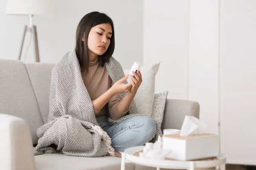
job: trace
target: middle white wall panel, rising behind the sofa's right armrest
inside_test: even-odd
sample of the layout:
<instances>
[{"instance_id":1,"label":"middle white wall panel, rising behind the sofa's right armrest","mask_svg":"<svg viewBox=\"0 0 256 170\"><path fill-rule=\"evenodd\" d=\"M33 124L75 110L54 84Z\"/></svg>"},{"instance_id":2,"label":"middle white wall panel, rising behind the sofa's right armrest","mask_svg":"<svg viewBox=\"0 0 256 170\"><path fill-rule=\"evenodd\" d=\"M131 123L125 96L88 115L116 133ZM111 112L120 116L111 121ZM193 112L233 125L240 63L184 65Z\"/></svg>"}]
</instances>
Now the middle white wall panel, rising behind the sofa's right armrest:
<instances>
[{"instance_id":1,"label":"middle white wall panel, rising behind the sofa's right armrest","mask_svg":"<svg viewBox=\"0 0 256 170\"><path fill-rule=\"evenodd\" d=\"M219 0L190 0L188 99L200 103L207 132L218 134Z\"/></svg>"}]
</instances>

